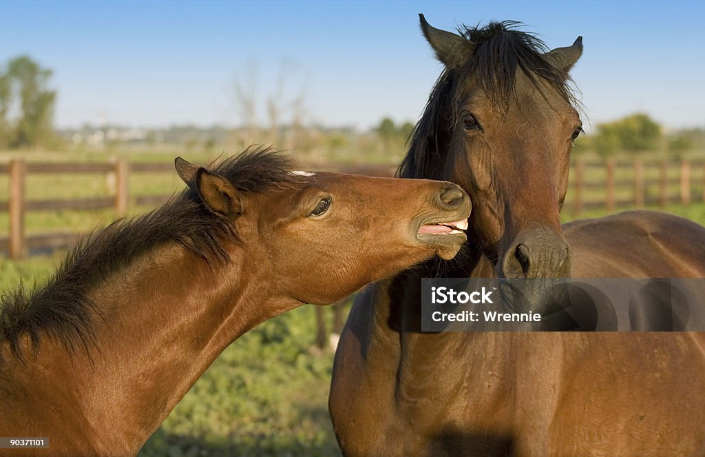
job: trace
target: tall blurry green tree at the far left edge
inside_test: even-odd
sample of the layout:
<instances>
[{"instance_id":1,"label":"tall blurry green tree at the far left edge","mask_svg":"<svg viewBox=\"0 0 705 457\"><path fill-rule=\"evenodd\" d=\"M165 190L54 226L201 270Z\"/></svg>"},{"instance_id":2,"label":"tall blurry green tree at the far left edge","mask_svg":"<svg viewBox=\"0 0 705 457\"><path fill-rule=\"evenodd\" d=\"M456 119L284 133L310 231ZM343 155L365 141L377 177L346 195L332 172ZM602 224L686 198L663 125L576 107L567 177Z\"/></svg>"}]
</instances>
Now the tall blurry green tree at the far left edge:
<instances>
[{"instance_id":1,"label":"tall blurry green tree at the far left edge","mask_svg":"<svg viewBox=\"0 0 705 457\"><path fill-rule=\"evenodd\" d=\"M4 146L42 146L51 138L56 92L47 89L49 78L51 70L27 56L11 59L0 72L0 143ZM8 119L13 106L18 107L14 122Z\"/></svg>"}]
</instances>

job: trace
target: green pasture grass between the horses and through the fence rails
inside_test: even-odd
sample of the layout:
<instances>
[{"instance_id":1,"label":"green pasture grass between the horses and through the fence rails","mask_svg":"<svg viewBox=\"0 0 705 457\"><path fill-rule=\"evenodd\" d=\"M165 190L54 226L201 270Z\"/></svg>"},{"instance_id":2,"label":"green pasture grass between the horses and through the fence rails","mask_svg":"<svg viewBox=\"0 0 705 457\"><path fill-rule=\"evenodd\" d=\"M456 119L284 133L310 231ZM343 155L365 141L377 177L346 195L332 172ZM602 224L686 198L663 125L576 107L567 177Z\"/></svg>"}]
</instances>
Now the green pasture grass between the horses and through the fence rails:
<instances>
[{"instance_id":1,"label":"green pasture grass between the horses and through the fence rails","mask_svg":"<svg viewBox=\"0 0 705 457\"><path fill-rule=\"evenodd\" d=\"M0 177L0 189L6 184L6 177ZM134 193L162 194L183 184L176 174L160 174L133 177L130 186ZM27 192L30 198L105 196L109 186L100 176L35 177L27 183ZM669 210L705 225L703 203ZM603 211L582 217L599 215ZM111 210L31 213L27 227L29 232L90 230L114 217ZM566 211L564 221L570 218ZM6 214L0 214L0 227L7 227ZM0 228L0 236L6 235L3 232ZM42 283L62 257L0 258L0 290L16 287L20 280ZM312 350L315 330L314 309L302 307L240 338L197 381L140 456L338 455L326 407L333 354Z\"/></svg>"}]
</instances>

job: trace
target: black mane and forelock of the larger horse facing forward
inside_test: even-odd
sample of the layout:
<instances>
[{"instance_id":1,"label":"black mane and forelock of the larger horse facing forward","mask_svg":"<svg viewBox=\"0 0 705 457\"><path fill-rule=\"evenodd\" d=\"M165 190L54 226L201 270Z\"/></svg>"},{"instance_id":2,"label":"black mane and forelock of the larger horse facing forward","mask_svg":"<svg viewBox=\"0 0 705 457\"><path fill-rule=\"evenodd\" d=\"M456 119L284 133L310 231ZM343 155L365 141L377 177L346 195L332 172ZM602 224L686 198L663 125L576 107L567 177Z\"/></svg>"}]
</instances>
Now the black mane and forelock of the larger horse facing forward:
<instances>
[{"instance_id":1,"label":"black mane and forelock of the larger horse facing forward","mask_svg":"<svg viewBox=\"0 0 705 457\"><path fill-rule=\"evenodd\" d=\"M541 81L548 83L571 106L579 105L568 73L553 66L544 57L548 52L546 44L536 35L518 30L520 25L505 20L484 27L460 28L460 34L474 43L472 56L460 68L445 69L439 76L416 124L407 155L397 170L399 177L441 179L442 137L448 136L458 120L458 110L454 107L472 78L497 109L506 109L515 98L517 69L525 73L542 96L546 97Z\"/></svg>"}]
</instances>

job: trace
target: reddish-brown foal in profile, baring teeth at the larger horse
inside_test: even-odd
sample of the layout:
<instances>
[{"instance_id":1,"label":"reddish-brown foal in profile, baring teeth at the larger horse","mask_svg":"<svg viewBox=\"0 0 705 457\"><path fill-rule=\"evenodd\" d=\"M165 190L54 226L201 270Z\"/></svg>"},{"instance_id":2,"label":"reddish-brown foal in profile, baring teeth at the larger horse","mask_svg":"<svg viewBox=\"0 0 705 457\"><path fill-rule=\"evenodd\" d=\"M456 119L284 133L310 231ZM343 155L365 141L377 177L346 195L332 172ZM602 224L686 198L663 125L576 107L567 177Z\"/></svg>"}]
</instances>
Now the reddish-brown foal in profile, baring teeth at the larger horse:
<instances>
[{"instance_id":1,"label":"reddish-brown foal in profile, baring teeth at the larger horse","mask_svg":"<svg viewBox=\"0 0 705 457\"><path fill-rule=\"evenodd\" d=\"M176 169L182 194L3 295L0 436L48 437L39 455L135 454L246 331L466 239L470 199L448 182L291 172L268 150Z\"/></svg>"}]
</instances>

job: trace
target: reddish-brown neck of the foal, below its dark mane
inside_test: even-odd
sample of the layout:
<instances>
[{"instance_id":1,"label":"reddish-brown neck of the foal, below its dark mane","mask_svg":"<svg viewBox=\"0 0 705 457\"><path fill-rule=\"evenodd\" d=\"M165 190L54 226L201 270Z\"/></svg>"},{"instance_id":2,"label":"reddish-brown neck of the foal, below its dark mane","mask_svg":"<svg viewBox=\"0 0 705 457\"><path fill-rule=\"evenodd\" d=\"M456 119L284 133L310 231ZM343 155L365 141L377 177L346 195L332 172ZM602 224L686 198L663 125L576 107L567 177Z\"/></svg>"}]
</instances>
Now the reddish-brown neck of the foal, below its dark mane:
<instances>
[{"instance_id":1,"label":"reddish-brown neck of the foal, below its dark mane","mask_svg":"<svg viewBox=\"0 0 705 457\"><path fill-rule=\"evenodd\" d=\"M49 382L56 372L52 388L66 388L104 452L139 450L223 349L294 307L240 270L210 268L176 246L145 256L90 292L102 314L90 357L40 352L35 366Z\"/></svg>"}]
</instances>

